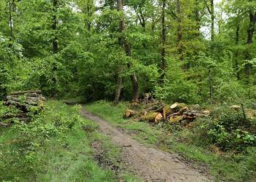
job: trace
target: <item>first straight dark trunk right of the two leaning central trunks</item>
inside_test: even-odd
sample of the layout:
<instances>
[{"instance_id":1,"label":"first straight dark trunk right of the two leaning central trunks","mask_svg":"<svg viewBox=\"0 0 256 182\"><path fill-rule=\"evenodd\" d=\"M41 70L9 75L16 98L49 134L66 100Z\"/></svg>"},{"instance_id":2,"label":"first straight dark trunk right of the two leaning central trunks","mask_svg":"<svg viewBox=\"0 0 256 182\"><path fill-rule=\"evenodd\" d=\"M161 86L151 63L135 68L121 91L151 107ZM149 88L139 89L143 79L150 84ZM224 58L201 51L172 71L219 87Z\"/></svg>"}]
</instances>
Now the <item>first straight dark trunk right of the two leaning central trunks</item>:
<instances>
[{"instance_id":1,"label":"first straight dark trunk right of the two leaning central trunks","mask_svg":"<svg viewBox=\"0 0 256 182\"><path fill-rule=\"evenodd\" d=\"M165 25L165 6L166 6L166 0L162 0L162 50L161 50L161 56L162 56L162 82L165 78L165 69L166 69L166 62L165 62L165 43L166 43L166 25Z\"/></svg>"}]
</instances>

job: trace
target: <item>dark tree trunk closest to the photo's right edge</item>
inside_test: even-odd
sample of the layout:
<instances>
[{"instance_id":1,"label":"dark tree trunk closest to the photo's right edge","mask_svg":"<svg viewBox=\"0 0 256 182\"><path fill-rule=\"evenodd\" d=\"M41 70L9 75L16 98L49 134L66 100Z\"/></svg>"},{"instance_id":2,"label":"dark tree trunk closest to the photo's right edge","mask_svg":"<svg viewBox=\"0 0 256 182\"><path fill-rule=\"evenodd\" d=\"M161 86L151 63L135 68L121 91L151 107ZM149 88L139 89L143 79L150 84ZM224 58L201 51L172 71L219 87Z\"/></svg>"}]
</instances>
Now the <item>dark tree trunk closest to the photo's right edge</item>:
<instances>
[{"instance_id":1,"label":"dark tree trunk closest to the photo's right edge","mask_svg":"<svg viewBox=\"0 0 256 182\"><path fill-rule=\"evenodd\" d=\"M249 28L247 29L247 45L248 45L248 49L249 47L251 47L252 44L252 39L253 39L253 34L255 33L255 23L256 23L256 12L255 15L251 12L249 13ZM251 60L252 56L249 53L249 50L246 51L245 53L245 58L246 60ZM246 76L249 76L249 74L251 74L251 70L252 70L252 65L249 63L245 64L245 74Z\"/></svg>"}]
</instances>

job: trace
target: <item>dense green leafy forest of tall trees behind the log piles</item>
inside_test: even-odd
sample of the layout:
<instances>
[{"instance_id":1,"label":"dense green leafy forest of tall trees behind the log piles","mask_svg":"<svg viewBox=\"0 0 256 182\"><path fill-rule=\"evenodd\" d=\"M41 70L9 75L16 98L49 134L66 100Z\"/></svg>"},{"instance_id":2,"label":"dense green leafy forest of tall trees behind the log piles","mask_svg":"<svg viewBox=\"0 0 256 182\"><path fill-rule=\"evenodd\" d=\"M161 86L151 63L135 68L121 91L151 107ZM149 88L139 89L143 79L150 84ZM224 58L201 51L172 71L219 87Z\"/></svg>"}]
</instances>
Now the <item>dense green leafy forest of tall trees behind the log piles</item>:
<instances>
[{"instance_id":1,"label":"dense green leafy forest of tall trees behind the log piles","mask_svg":"<svg viewBox=\"0 0 256 182\"><path fill-rule=\"evenodd\" d=\"M117 4L118 2L118 4ZM118 7L118 8L117 8ZM1 95L255 98L255 1L1 1Z\"/></svg>"}]
</instances>

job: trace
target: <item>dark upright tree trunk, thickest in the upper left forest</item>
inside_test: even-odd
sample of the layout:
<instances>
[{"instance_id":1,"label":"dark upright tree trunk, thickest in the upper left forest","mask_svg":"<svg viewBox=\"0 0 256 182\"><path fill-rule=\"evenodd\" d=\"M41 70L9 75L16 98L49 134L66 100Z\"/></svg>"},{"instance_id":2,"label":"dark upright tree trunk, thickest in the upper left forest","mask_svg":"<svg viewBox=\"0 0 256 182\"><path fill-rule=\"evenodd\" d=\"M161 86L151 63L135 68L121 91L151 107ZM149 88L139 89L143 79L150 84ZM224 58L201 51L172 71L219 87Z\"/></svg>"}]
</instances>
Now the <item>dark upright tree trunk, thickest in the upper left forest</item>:
<instances>
[{"instance_id":1,"label":"dark upright tree trunk, thickest in the upper left forest","mask_svg":"<svg viewBox=\"0 0 256 182\"><path fill-rule=\"evenodd\" d=\"M57 31L57 17L56 17L56 13L57 13L57 9L58 9L58 0L53 0L53 54L56 54L58 52L58 39L56 36L56 31Z\"/></svg>"}]
</instances>

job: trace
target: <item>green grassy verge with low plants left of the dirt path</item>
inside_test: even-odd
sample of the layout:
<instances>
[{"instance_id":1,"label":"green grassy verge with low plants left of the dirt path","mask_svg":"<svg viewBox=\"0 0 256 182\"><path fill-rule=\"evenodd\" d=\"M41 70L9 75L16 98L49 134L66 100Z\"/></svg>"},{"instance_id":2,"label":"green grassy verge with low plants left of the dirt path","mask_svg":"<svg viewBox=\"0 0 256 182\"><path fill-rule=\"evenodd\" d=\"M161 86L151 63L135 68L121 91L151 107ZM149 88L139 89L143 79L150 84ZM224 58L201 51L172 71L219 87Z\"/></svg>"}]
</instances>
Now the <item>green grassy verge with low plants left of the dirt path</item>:
<instances>
[{"instance_id":1,"label":"green grassy verge with low plants left of the dirt path","mask_svg":"<svg viewBox=\"0 0 256 182\"><path fill-rule=\"evenodd\" d=\"M0 181L138 181L94 161L94 141L117 166L120 150L97 132L97 124L81 118L79 109L49 101L31 123L0 128Z\"/></svg>"}]
</instances>

